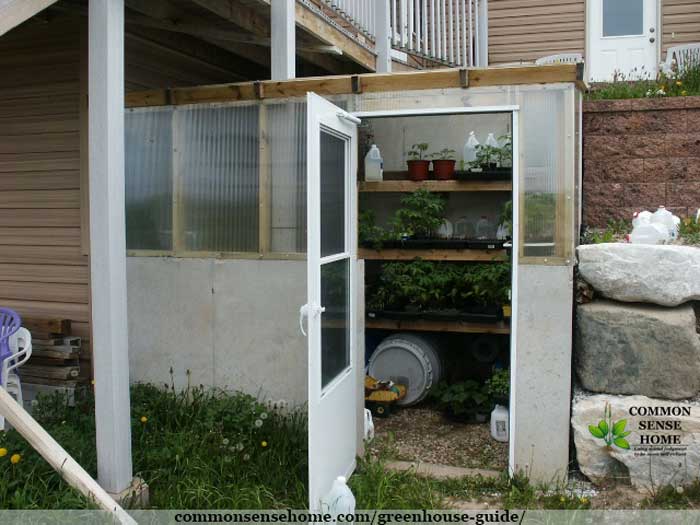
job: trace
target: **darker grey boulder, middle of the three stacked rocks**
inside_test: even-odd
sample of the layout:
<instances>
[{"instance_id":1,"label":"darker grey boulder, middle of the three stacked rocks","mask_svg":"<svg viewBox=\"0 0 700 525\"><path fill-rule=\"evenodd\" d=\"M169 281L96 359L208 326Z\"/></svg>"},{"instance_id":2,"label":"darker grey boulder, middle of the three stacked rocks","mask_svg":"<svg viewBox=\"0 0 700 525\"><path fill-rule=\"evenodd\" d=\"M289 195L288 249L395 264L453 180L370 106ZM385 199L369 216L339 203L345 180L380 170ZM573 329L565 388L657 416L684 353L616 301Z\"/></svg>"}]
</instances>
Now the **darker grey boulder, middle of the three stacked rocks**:
<instances>
[{"instance_id":1,"label":"darker grey boulder, middle of the three stacked rocks","mask_svg":"<svg viewBox=\"0 0 700 525\"><path fill-rule=\"evenodd\" d=\"M594 301L576 310L576 373L593 392L684 399L700 391L691 305Z\"/></svg>"}]
</instances>

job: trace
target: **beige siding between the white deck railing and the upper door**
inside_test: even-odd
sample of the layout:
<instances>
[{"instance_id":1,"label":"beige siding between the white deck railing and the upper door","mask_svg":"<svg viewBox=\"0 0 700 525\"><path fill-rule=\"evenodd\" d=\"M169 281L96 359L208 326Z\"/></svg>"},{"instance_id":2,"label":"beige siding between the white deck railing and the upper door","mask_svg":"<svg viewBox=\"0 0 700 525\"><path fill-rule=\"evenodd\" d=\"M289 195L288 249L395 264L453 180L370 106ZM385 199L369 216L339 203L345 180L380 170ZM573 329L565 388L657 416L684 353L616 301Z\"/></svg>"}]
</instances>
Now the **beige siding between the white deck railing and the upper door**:
<instances>
[{"instance_id":1,"label":"beige siding between the white deck railing and the upper door","mask_svg":"<svg viewBox=\"0 0 700 525\"><path fill-rule=\"evenodd\" d=\"M489 0L489 64L584 53L584 0Z\"/></svg>"}]
</instances>

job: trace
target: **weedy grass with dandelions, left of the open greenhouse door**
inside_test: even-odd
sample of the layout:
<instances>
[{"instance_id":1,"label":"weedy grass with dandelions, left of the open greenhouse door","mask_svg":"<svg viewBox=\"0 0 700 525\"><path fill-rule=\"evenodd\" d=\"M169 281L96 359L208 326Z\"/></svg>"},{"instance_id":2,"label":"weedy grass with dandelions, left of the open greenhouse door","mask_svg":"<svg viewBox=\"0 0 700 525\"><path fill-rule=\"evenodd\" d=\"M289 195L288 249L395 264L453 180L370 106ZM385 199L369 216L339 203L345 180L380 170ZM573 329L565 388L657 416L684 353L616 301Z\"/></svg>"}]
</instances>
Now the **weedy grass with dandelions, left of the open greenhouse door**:
<instances>
[{"instance_id":1,"label":"weedy grass with dandelions, left of the open greenhouse door","mask_svg":"<svg viewBox=\"0 0 700 525\"><path fill-rule=\"evenodd\" d=\"M306 421L240 393L136 385L131 390L134 472L150 487L152 508L304 508ZM36 419L91 475L96 472L94 401L76 407L44 398ZM143 419L142 419L143 418ZM0 434L0 508L80 509L68 487L14 430ZM0 454L3 451L0 450ZM19 463L10 458L19 454Z\"/></svg>"}]
</instances>

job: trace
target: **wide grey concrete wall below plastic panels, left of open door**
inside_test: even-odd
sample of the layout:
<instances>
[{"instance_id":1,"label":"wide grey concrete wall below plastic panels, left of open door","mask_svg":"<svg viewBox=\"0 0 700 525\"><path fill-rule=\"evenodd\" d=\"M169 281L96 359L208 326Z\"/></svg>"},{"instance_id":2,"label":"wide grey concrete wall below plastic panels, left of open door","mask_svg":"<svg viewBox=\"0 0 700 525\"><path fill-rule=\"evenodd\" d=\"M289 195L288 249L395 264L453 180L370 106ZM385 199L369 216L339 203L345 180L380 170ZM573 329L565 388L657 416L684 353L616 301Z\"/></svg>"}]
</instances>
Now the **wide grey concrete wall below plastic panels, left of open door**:
<instances>
[{"instance_id":1,"label":"wide grey concrete wall below plastic panels, left of open door","mask_svg":"<svg viewBox=\"0 0 700 525\"><path fill-rule=\"evenodd\" d=\"M129 257L127 280L132 382L306 401L305 261Z\"/></svg>"}]
</instances>

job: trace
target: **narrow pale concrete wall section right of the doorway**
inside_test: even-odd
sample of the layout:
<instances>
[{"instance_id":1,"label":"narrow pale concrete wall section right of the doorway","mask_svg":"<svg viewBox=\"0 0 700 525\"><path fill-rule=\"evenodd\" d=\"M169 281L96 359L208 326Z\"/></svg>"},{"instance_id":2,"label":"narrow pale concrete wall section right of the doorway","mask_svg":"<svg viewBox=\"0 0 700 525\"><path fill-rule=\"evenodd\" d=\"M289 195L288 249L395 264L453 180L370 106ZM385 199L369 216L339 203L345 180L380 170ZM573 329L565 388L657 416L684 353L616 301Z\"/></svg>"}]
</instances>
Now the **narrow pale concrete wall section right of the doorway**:
<instances>
[{"instance_id":1,"label":"narrow pale concrete wall section right of the doorway","mask_svg":"<svg viewBox=\"0 0 700 525\"><path fill-rule=\"evenodd\" d=\"M573 268L518 267L512 467L536 481L567 474L572 308Z\"/></svg>"}]
</instances>

